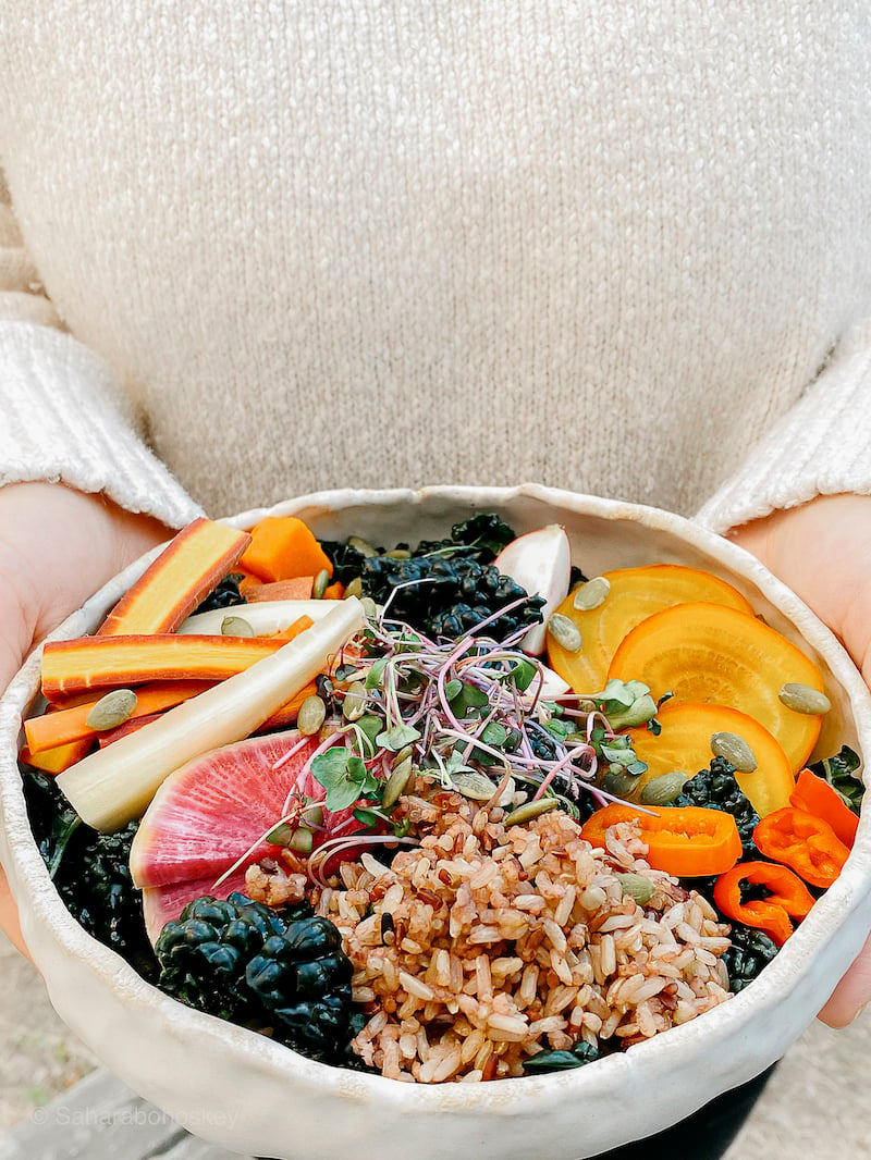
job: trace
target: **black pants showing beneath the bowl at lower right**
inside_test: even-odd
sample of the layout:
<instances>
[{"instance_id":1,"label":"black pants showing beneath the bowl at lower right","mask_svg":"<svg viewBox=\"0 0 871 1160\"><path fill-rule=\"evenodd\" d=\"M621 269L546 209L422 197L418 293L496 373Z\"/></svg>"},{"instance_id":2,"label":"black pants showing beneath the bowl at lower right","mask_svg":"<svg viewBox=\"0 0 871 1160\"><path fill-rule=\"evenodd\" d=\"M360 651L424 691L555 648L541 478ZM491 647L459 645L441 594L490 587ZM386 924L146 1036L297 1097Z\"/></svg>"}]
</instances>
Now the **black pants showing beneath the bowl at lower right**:
<instances>
[{"instance_id":1,"label":"black pants showing beneath the bowl at lower right","mask_svg":"<svg viewBox=\"0 0 871 1160\"><path fill-rule=\"evenodd\" d=\"M600 1152L596 1160L719 1160L753 1111L773 1070L769 1067L749 1083L718 1096L674 1128Z\"/></svg>"}]
</instances>

